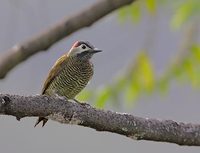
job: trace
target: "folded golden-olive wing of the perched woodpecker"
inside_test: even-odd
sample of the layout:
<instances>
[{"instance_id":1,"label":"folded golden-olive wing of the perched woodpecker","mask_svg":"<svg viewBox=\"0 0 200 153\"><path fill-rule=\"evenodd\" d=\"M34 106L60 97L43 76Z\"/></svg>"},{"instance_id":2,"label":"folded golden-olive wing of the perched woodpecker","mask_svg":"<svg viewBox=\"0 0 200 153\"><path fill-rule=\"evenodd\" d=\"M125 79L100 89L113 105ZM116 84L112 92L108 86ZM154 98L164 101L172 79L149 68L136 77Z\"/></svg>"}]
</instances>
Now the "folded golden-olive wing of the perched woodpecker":
<instances>
[{"instance_id":1,"label":"folded golden-olive wing of the perched woodpecker","mask_svg":"<svg viewBox=\"0 0 200 153\"><path fill-rule=\"evenodd\" d=\"M60 73L60 71L62 70L63 65L68 61L67 58L67 54L64 54L63 56L61 56L56 63L53 65L53 67L51 68L47 79L44 82L43 88L42 88L42 94L45 93L45 91L47 90L47 88L49 87L49 85L52 83L52 81L55 79L55 77L58 75L58 73Z\"/></svg>"}]
</instances>

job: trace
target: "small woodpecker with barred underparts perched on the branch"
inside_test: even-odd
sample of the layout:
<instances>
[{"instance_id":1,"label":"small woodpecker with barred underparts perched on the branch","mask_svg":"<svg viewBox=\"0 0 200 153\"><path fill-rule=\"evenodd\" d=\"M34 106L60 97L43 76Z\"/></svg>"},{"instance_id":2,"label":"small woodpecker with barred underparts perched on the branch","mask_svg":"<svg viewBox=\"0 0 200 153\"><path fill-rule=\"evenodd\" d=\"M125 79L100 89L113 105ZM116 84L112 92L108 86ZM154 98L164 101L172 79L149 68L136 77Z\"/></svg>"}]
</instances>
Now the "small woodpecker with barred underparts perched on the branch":
<instances>
[{"instance_id":1,"label":"small woodpecker with barred underparts perched on the branch","mask_svg":"<svg viewBox=\"0 0 200 153\"><path fill-rule=\"evenodd\" d=\"M64 97L74 100L91 80L94 72L91 58L101 52L88 41L76 41L69 52L62 55L51 68L42 88L42 95ZM39 117L35 127L43 121L42 127L48 121Z\"/></svg>"}]
</instances>

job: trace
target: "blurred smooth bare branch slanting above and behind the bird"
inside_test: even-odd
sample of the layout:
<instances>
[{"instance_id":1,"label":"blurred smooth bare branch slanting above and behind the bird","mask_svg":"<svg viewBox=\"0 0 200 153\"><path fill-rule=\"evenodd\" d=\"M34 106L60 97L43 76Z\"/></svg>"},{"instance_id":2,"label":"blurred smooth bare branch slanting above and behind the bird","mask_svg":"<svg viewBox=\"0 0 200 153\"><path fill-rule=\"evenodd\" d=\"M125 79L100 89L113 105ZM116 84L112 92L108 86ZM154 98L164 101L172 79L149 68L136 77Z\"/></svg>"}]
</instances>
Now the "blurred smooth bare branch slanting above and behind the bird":
<instances>
[{"instance_id":1,"label":"blurred smooth bare branch slanting above and behind the bird","mask_svg":"<svg viewBox=\"0 0 200 153\"><path fill-rule=\"evenodd\" d=\"M100 0L92 6L67 17L63 21L39 33L29 40L16 44L0 57L0 79L19 63L39 51L47 50L57 41L69 36L73 32L91 26L93 23L111 13L112 11L128 5L135 0Z\"/></svg>"}]
</instances>

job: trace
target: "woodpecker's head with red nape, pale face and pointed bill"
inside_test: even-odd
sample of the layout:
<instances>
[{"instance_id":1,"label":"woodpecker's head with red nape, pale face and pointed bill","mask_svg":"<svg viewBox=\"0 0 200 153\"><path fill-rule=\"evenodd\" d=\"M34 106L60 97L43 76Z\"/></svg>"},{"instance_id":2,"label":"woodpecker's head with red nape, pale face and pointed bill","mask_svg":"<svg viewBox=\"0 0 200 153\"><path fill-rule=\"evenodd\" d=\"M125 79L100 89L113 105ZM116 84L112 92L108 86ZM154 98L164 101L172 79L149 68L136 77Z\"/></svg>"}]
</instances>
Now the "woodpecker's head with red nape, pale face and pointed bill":
<instances>
[{"instance_id":1,"label":"woodpecker's head with red nape, pale face and pointed bill","mask_svg":"<svg viewBox=\"0 0 200 153\"><path fill-rule=\"evenodd\" d=\"M92 55L98 52L101 52L101 50L95 48L88 41L77 41L70 49L68 56L87 60L90 59Z\"/></svg>"}]
</instances>

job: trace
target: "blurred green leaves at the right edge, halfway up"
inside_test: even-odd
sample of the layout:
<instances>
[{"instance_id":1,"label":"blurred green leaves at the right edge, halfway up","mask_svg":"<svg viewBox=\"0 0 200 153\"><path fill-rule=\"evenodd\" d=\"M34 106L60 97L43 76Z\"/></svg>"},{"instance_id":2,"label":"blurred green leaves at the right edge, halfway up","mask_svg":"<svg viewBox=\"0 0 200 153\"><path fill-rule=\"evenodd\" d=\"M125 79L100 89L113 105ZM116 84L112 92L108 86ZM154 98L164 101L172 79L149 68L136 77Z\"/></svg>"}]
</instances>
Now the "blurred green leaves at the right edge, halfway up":
<instances>
[{"instance_id":1,"label":"blurred green leaves at the right edge, halfway up","mask_svg":"<svg viewBox=\"0 0 200 153\"><path fill-rule=\"evenodd\" d=\"M173 78L200 87L200 45L192 45L181 59L175 60L160 78L160 89L166 88Z\"/></svg>"}]
</instances>

